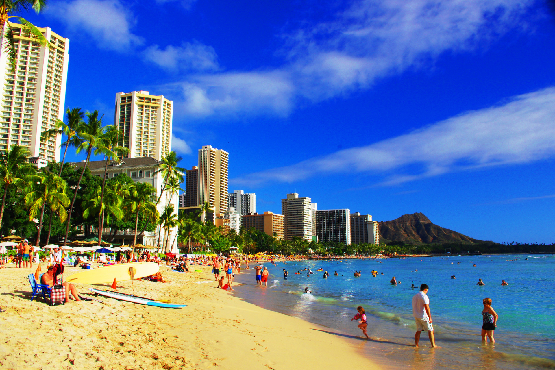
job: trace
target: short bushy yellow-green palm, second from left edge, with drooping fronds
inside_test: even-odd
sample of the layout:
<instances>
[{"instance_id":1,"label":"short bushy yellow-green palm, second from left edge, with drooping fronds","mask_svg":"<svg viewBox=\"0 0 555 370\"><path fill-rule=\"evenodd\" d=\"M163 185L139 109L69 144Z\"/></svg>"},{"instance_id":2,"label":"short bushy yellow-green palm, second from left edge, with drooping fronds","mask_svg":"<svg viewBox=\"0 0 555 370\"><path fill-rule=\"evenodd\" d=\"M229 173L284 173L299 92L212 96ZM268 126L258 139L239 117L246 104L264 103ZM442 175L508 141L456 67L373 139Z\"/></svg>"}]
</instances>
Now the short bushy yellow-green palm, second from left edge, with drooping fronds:
<instances>
[{"instance_id":1,"label":"short bushy yellow-green palm, second from left edge, with drooping fronds","mask_svg":"<svg viewBox=\"0 0 555 370\"><path fill-rule=\"evenodd\" d=\"M50 205L53 212L58 212L60 220L67 217L65 207L69 205L69 198L65 195L67 183L60 176L43 170L41 175L33 175L33 181L28 186L25 195L25 205L29 207L29 221L40 214L37 231L36 246L41 241L42 220L44 217L44 206Z\"/></svg>"}]
</instances>

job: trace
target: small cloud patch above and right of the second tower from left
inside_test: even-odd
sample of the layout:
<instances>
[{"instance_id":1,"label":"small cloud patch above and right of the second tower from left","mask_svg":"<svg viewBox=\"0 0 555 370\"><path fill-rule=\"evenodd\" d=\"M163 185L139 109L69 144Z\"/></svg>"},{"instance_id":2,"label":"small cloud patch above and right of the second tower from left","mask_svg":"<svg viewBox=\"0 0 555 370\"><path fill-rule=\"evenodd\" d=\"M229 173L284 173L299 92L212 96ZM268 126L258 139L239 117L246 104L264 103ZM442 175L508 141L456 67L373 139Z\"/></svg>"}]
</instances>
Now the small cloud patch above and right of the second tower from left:
<instances>
[{"instance_id":1,"label":"small cloud patch above and right of the second tower from left","mask_svg":"<svg viewBox=\"0 0 555 370\"><path fill-rule=\"evenodd\" d=\"M195 71L218 69L214 48L197 42L184 42L178 47L168 45L165 49L152 45L144 50L144 54L148 60L166 69Z\"/></svg>"}]
</instances>

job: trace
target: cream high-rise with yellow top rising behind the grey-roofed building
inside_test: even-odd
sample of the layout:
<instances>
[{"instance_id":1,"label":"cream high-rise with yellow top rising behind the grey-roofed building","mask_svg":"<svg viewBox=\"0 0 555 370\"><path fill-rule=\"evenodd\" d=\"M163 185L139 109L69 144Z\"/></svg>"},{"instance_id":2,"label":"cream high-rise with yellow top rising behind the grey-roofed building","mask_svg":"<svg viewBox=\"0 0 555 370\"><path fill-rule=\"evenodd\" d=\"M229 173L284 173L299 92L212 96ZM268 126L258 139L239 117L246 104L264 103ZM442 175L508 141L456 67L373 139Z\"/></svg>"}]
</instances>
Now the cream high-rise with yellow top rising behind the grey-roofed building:
<instances>
[{"instance_id":1,"label":"cream high-rise with yellow top rising behind the grey-roofed building","mask_svg":"<svg viewBox=\"0 0 555 370\"><path fill-rule=\"evenodd\" d=\"M161 160L171 151L173 101L148 91L115 94L114 124L123 131L123 158L151 156Z\"/></svg>"}]
</instances>

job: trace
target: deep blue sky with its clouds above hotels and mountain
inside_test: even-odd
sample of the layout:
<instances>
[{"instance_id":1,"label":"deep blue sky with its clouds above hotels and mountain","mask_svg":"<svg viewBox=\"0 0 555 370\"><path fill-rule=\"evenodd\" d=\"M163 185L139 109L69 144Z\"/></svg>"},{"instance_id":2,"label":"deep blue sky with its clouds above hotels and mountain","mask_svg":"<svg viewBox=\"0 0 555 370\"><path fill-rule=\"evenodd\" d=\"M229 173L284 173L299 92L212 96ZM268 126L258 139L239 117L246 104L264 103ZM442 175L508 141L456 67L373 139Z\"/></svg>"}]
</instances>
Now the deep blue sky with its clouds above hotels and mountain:
<instances>
[{"instance_id":1,"label":"deep blue sky with its clouds above hotels and mountain","mask_svg":"<svg viewBox=\"0 0 555 370\"><path fill-rule=\"evenodd\" d=\"M174 100L173 147L230 188L476 239L555 242L555 20L542 1L51 1L66 107ZM75 158L73 159L80 159Z\"/></svg>"}]
</instances>

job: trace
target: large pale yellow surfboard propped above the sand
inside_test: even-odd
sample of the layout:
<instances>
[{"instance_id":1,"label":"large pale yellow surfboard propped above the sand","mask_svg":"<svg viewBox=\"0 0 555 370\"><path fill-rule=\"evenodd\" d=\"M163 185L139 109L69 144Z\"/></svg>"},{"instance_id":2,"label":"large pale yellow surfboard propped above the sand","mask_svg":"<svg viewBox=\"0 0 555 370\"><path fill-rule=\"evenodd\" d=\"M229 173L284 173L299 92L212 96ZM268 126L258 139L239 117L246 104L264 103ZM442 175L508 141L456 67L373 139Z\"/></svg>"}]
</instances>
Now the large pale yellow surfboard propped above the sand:
<instances>
[{"instance_id":1,"label":"large pale yellow surfboard propped above the sand","mask_svg":"<svg viewBox=\"0 0 555 370\"><path fill-rule=\"evenodd\" d=\"M67 282L101 284L111 283L114 281L114 278L117 281L131 280L129 268L133 269L133 278L135 279L154 275L160 270L158 263L153 262L120 263L119 265L92 268L91 270L75 273L68 276Z\"/></svg>"}]
</instances>

